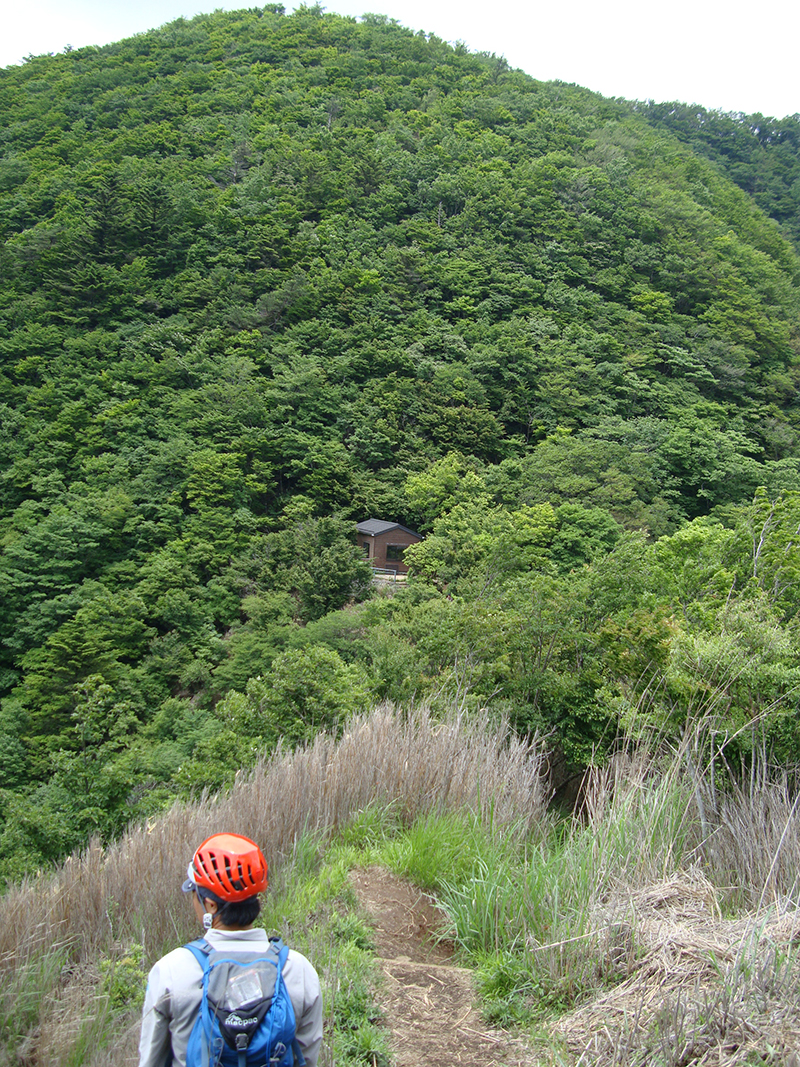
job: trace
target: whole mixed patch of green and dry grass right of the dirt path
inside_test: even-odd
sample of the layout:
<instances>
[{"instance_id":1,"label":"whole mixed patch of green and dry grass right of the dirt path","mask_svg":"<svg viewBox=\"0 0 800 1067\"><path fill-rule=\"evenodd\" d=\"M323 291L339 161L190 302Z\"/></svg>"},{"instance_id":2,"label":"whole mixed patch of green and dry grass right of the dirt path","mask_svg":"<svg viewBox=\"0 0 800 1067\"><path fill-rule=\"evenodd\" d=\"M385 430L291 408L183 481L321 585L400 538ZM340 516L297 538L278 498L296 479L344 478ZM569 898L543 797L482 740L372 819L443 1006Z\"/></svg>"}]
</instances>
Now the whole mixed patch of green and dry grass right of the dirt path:
<instances>
[{"instance_id":1,"label":"whole mixed patch of green and dry grass right of the dirt path","mask_svg":"<svg viewBox=\"0 0 800 1067\"><path fill-rule=\"evenodd\" d=\"M547 1062L796 1062L800 799L700 750L621 752L556 832L439 886L491 1020L566 1036Z\"/></svg>"}]
</instances>

